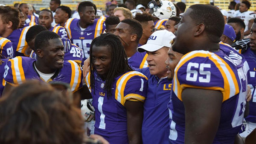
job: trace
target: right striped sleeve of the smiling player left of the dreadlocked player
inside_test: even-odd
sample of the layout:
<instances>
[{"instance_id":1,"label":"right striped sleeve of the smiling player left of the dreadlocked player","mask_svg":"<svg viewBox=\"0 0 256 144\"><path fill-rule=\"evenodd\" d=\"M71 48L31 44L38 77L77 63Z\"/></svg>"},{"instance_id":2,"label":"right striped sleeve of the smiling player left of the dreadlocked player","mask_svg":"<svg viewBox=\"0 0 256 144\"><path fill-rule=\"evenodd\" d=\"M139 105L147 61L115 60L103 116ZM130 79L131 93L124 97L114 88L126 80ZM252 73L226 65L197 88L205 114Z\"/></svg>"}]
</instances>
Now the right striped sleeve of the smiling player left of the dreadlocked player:
<instances>
[{"instance_id":1,"label":"right striped sleeve of the smiling player left of the dreadlocked player","mask_svg":"<svg viewBox=\"0 0 256 144\"><path fill-rule=\"evenodd\" d=\"M81 67L73 60L68 60L71 64L72 74L70 80L70 88L72 92L76 92L82 87L82 69Z\"/></svg>"}]
</instances>

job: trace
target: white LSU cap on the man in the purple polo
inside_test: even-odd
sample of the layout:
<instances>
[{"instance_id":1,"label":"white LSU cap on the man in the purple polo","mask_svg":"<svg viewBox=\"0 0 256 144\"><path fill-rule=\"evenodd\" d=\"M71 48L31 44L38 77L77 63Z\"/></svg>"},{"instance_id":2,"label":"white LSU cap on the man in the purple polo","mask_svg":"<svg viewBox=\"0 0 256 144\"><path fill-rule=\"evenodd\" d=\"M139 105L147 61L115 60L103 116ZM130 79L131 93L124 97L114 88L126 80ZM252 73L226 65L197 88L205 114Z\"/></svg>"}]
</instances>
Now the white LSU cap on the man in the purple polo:
<instances>
[{"instance_id":1,"label":"white LSU cap on the man in the purple polo","mask_svg":"<svg viewBox=\"0 0 256 144\"><path fill-rule=\"evenodd\" d=\"M149 38L146 44L137 48L138 52L154 52L161 49L163 46L171 47L171 41L175 37L172 32L164 30L155 31Z\"/></svg>"}]
</instances>

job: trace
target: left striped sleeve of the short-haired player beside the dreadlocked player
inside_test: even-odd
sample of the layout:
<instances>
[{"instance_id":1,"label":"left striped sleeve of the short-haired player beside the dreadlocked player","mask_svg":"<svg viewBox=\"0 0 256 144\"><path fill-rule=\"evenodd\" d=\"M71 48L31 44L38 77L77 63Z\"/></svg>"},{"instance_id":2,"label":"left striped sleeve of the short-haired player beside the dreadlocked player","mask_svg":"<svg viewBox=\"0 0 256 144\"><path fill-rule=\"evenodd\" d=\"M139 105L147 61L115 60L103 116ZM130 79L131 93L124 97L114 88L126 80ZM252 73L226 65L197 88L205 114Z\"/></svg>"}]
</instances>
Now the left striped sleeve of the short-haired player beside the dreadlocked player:
<instances>
[{"instance_id":1,"label":"left striped sleeve of the short-haired player beside the dreadlocked player","mask_svg":"<svg viewBox=\"0 0 256 144\"><path fill-rule=\"evenodd\" d=\"M5 72L3 74L3 78L8 84L15 86L16 84L22 84L25 81L21 57L10 59L6 63L4 69Z\"/></svg>"}]
</instances>

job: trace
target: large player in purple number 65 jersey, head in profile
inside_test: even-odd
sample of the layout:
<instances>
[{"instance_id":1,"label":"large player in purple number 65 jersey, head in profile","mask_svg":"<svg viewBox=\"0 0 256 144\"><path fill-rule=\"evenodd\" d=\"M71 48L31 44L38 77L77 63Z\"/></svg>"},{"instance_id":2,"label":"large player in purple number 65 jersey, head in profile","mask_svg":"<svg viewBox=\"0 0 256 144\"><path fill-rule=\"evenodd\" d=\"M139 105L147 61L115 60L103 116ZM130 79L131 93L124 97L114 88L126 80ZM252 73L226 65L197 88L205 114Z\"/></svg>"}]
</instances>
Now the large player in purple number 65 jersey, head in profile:
<instances>
[{"instance_id":1,"label":"large player in purple number 65 jersey, head in profile","mask_svg":"<svg viewBox=\"0 0 256 144\"><path fill-rule=\"evenodd\" d=\"M190 6L175 26L172 49L184 56L174 70L168 106L172 144L233 144L241 128L249 66L220 48L223 29L221 12L201 4Z\"/></svg>"}]
</instances>

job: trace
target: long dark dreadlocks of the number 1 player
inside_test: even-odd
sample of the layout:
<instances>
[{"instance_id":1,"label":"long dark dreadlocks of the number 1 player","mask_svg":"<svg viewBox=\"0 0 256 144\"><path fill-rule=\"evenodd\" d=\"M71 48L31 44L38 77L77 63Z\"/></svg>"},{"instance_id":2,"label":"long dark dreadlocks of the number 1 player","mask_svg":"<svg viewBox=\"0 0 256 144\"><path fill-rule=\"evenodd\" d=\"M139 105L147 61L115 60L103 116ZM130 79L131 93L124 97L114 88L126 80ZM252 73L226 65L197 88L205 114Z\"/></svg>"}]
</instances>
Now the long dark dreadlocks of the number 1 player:
<instances>
[{"instance_id":1,"label":"long dark dreadlocks of the number 1 player","mask_svg":"<svg viewBox=\"0 0 256 144\"><path fill-rule=\"evenodd\" d=\"M111 33L101 34L99 37L96 37L91 45L90 45L90 87L91 89L95 88L95 75L94 66L93 66L93 46L107 46L111 49L111 66L106 77L106 83L104 86L104 91L107 92L108 95L111 94L111 88L113 85L114 79L124 74L127 71L133 71L131 67L128 65L128 58L125 53L125 49L122 46L120 41L120 37L113 35Z\"/></svg>"}]
</instances>

